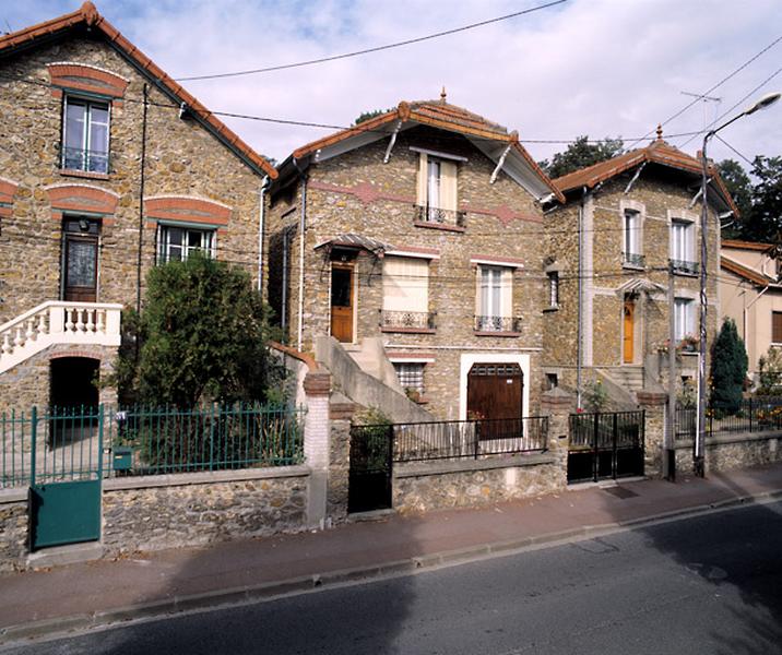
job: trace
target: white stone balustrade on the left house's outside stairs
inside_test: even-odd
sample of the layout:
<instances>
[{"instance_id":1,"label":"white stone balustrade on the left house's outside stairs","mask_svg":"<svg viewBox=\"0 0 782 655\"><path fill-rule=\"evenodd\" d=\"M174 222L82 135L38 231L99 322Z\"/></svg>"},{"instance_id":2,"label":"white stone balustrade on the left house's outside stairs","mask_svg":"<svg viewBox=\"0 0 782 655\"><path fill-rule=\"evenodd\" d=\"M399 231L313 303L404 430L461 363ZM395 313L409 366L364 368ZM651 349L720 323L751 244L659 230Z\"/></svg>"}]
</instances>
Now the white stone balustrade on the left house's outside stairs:
<instances>
[{"instance_id":1,"label":"white stone balustrade on the left house's outside stairs","mask_svg":"<svg viewBox=\"0 0 782 655\"><path fill-rule=\"evenodd\" d=\"M0 325L0 373L49 346L119 346L121 305L49 300Z\"/></svg>"}]
</instances>

